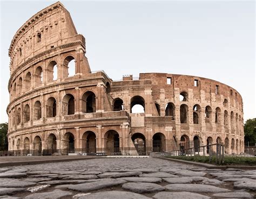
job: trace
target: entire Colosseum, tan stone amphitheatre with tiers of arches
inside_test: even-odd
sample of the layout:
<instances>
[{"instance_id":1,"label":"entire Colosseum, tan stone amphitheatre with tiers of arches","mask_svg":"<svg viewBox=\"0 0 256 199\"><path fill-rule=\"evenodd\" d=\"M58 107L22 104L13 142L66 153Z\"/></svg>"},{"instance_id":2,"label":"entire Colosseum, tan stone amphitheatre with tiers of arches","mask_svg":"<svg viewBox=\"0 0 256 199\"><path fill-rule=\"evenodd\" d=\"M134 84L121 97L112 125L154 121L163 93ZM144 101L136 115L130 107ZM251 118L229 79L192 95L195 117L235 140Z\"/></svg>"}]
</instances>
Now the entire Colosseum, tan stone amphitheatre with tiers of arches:
<instances>
[{"instance_id":1,"label":"entire Colosseum, tan stone amphitheatre with tiers of arches","mask_svg":"<svg viewBox=\"0 0 256 199\"><path fill-rule=\"evenodd\" d=\"M241 95L219 81L92 72L85 38L57 2L18 29L9 49L9 150L147 155L223 143L244 152Z\"/></svg>"}]
</instances>

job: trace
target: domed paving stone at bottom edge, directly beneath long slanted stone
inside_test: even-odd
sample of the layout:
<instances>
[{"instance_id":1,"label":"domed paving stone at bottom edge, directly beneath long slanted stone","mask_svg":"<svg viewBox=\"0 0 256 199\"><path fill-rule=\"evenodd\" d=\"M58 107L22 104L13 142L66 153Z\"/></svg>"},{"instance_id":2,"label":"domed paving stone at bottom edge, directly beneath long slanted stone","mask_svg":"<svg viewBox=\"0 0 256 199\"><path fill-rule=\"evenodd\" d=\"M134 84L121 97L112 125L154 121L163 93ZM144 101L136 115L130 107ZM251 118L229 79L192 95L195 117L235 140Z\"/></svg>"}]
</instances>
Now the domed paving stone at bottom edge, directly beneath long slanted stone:
<instances>
[{"instance_id":1,"label":"domed paving stone at bottom edge, directly beneath long slanted stone","mask_svg":"<svg viewBox=\"0 0 256 199\"><path fill-rule=\"evenodd\" d=\"M127 191L102 191L78 197L79 199L150 199L144 195L131 193Z\"/></svg>"}]
</instances>

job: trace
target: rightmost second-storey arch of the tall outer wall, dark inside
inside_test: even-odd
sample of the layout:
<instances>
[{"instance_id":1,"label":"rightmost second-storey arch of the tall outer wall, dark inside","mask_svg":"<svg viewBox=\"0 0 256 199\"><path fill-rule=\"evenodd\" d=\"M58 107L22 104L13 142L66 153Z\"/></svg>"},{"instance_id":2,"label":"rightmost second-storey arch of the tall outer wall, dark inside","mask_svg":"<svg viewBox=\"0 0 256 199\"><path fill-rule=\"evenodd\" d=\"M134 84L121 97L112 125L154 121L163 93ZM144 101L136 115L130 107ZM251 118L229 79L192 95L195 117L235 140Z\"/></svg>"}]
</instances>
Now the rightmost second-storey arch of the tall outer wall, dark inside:
<instances>
[{"instance_id":1,"label":"rightmost second-storey arch of the tall outer wall, dark inside","mask_svg":"<svg viewBox=\"0 0 256 199\"><path fill-rule=\"evenodd\" d=\"M96 96L91 91L85 92L82 96L82 112L83 113L96 112Z\"/></svg>"}]
</instances>

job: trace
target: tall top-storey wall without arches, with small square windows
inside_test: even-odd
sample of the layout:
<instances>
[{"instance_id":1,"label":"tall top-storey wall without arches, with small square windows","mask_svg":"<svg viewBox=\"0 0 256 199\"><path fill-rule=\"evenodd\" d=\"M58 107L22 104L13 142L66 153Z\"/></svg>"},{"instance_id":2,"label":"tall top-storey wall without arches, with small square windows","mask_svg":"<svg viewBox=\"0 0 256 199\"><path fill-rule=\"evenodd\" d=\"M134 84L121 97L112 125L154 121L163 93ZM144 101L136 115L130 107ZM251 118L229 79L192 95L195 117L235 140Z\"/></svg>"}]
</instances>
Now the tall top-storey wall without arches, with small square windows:
<instances>
[{"instance_id":1,"label":"tall top-storey wall without arches, with small square windows","mask_svg":"<svg viewBox=\"0 0 256 199\"><path fill-rule=\"evenodd\" d=\"M62 3L57 2L32 16L16 32L9 48L10 71L14 70L39 53L56 46L82 40L76 37L77 31L70 13Z\"/></svg>"}]
</instances>

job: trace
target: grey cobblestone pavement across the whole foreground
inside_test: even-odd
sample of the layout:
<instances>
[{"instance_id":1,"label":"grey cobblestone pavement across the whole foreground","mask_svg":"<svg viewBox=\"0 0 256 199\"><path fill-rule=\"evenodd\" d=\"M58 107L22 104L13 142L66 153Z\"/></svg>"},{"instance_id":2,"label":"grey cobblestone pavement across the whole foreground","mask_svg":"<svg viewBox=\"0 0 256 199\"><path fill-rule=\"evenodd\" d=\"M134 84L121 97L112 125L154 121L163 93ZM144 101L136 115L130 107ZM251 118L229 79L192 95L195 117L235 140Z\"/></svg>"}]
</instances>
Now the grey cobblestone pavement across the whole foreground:
<instances>
[{"instance_id":1,"label":"grey cobblestone pavement across the whole foreground","mask_svg":"<svg viewBox=\"0 0 256 199\"><path fill-rule=\"evenodd\" d=\"M256 170L206 169L153 158L0 168L0 198L255 198Z\"/></svg>"}]
</instances>

